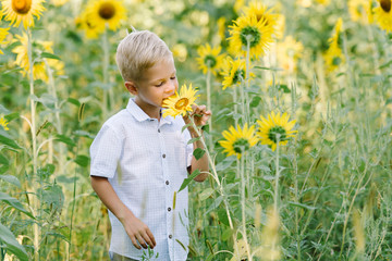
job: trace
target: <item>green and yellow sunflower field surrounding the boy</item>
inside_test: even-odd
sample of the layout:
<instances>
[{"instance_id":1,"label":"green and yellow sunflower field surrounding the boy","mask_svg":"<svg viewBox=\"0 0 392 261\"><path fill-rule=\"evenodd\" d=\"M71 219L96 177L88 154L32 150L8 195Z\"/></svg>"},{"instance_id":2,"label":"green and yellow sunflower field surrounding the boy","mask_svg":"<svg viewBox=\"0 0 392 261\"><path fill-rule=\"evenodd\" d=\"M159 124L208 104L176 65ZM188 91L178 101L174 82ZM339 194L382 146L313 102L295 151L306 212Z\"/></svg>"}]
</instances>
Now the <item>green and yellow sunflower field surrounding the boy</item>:
<instances>
[{"instance_id":1,"label":"green and yellow sunflower field surrounding the boy","mask_svg":"<svg viewBox=\"0 0 392 261\"><path fill-rule=\"evenodd\" d=\"M188 260L392 260L392 0L0 2L0 260L109 260L89 146L135 28L212 111Z\"/></svg>"}]
</instances>

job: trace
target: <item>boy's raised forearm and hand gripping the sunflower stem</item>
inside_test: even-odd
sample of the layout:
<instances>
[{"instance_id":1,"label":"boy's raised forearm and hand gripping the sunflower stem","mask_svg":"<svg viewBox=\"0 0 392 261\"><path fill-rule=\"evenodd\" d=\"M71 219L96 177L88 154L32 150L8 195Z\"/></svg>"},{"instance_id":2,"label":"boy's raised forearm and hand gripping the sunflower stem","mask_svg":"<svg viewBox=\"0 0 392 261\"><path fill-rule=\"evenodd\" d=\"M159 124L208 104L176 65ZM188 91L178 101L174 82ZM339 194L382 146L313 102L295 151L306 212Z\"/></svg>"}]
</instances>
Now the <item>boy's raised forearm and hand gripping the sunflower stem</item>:
<instances>
[{"instance_id":1,"label":"boy's raised forearm and hand gripping the sunflower stem","mask_svg":"<svg viewBox=\"0 0 392 261\"><path fill-rule=\"evenodd\" d=\"M211 116L211 112L210 111L207 111L206 110L206 105L193 105L193 115L196 114L193 119L194 119L194 122L195 122L195 125L196 126L204 126L206 125L208 119ZM184 121L186 124L189 123L189 119L187 116L184 116ZM196 138L198 137L197 136L197 133L196 130L189 126L188 127L188 130L191 133L191 137L192 138ZM201 130L203 132L203 130ZM201 133L203 135L203 133ZM197 148L200 148L200 149L206 149L204 146L203 146L203 142L201 140L196 140L193 142L193 147L194 147L194 150L197 149ZM195 170L199 170L200 171L200 174L197 175L194 181L196 182L204 182L207 176L208 176L208 172L209 172L209 166L208 166L208 157L207 157L207 153L205 153L200 159L196 160L195 157L192 158L192 161L191 161L191 166L188 167L188 172L192 173L194 172Z\"/></svg>"}]
</instances>

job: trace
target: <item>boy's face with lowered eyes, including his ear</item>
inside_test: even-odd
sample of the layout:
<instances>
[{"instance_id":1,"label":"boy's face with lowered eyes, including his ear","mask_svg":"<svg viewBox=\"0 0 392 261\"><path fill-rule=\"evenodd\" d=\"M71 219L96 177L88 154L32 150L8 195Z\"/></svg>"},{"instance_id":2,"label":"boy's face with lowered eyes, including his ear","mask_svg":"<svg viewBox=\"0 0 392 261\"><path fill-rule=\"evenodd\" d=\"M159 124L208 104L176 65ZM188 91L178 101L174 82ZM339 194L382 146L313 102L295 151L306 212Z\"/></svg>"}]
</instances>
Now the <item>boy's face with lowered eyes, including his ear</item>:
<instances>
[{"instance_id":1,"label":"boy's face with lowered eyes, including his ear","mask_svg":"<svg viewBox=\"0 0 392 261\"><path fill-rule=\"evenodd\" d=\"M131 88L127 85L132 85ZM174 95L179 88L175 76L173 59L157 62L152 67L145 71L137 83L125 83L131 94L135 95L135 102L147 114L147 111L160 110L163 99Z\"/></svg>"}]
</instances>

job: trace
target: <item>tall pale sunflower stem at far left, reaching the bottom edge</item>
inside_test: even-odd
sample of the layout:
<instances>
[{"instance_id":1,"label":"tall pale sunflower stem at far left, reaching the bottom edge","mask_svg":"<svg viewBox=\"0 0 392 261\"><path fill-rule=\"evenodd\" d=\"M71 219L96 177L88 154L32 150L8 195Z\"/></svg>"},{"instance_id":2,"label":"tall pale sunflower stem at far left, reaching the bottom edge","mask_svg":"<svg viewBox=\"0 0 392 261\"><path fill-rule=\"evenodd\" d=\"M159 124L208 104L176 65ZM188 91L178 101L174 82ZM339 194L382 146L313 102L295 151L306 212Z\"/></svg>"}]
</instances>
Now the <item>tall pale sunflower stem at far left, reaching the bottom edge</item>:
<instances>
[{"instance_id":1,"label":"tall pale sunflower stem at far left, reaching the bottom edge","mask_svg":"<svg viewBox=\"0 0 392 261\"><path fill-rule=\"evenodd\" d=\"M32 113L32 124L30 124L30 132L32 132L32 141L33 141L33 172L34 175L37 174L37 165L38 165L38 159L37 159L37 135L36 135L36 105L34 101L34 62L33 62L33 44L32 44L32 32L29 28L27 28L27 55L28 55L28 73L29 73L29 102L30 102L30 113ZM34 215L37 217L37 211L38 211L38 199L37 195L38 192L35 191L36 197L32 199L33 201L33 210ZM40 229L38 226L38 223L35 222L34 225L34 260L39 260L39 235Z\"/></svg>"}]
</instances>

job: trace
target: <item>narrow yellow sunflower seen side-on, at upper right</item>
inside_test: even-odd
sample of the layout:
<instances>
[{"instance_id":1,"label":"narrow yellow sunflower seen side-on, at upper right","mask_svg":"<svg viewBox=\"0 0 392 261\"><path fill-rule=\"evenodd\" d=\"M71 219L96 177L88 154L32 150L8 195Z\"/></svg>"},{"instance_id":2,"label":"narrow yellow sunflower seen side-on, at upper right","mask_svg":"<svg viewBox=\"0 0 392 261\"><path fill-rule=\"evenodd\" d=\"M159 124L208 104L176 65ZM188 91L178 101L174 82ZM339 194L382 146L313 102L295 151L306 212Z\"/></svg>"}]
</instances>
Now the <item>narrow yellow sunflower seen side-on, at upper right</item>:
<instances>
[{"instance_id":1,"label":"narrow yellow sunflower seen side-on, at upper right","mask_svg":"<svg viewBox=\"0 0 392 261\"><path fill-rule=\"evenodd\" d=\"M339 18L335 25L334 34L328 39L330 46L324 54L324 60L329 71L335 70L344 61L344 55L340 47L342 23L342 18Z\"/></svg>"}]
</instances>

